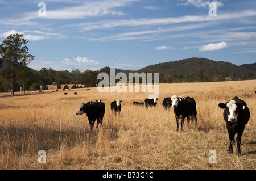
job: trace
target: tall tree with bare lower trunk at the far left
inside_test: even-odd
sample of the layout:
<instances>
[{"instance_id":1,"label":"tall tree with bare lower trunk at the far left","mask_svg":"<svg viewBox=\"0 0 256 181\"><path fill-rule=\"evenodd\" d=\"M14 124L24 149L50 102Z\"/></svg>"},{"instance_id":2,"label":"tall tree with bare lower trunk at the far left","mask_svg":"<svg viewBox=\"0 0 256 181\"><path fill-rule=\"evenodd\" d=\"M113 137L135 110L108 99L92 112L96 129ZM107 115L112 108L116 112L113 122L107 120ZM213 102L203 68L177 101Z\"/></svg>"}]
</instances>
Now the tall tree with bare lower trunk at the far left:
<instances>
[{"instance_id":1,"label":"tall tree with bare lower trunk at the far left","mask_svg":"<svg viewBox=\"0 0 256 181\"><path fill-rule=\"evenodd\" d=\"M27 61L34 60L34 56L28 54L28 47L26 44L29 42L27 39L22 38L23 35L11 34L0 45L0 54L2 60L6 61L6 68L10 73L10 88L11 95L14 96L15 78L18 70L18 65L26 64ZM24 84L23 84L24 86Z\"/></svg>"}]
</instances>

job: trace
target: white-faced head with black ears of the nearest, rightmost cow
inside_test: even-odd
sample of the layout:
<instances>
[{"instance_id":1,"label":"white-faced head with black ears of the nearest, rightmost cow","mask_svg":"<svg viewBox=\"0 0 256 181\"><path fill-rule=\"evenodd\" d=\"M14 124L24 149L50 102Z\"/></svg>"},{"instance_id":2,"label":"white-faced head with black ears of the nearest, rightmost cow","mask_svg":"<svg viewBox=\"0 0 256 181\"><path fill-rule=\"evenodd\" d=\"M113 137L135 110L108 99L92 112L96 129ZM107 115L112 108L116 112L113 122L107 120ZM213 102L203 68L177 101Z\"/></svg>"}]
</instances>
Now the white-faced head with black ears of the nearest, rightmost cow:
<instances>
[{"instance_id":1,"label":"white-faced head with black ears of the nearest, rightmost cow","mask_svg":"<svg viewBox=\"0 0 256 181\"><path fill-rule=\"evenodd\" d=\"M237 116L238 116L238 111L240 109L245 109L246 104L243 103L237 103L235 100L229 100L226 104L220 103L218 104L218 107L225 109L228 113L228 121L229 122L236 122L237 121Z\"/></svg>"}]
</instances>

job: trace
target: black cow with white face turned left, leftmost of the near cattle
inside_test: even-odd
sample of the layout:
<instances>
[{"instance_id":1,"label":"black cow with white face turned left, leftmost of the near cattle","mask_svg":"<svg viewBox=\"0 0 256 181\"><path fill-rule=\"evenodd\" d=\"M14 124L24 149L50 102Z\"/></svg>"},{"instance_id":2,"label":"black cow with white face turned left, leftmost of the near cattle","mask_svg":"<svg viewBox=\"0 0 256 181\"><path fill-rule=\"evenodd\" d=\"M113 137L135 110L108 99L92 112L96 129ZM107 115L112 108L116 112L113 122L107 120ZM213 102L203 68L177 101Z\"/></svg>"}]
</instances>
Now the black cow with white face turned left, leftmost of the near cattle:
<instances>
[{"instance_id":1,"label":"black cow with white face turned left, leftmost of the near cattle","mask_svg":"<svg viewBox=\"0 0 256 181\"><path fill-rule=\"evenodd\" d=\"M97 119L96 128L98 128L99 123L102 125L103 116L105 114L105 104L102 102L96 102L96 103L90 103L90 104L81 103L79 110L76 112L76 115L82 115L84 113L86 113L88 117L90 129L91 130L93 129L96 119Z\"/></svg>"}]
</instances>

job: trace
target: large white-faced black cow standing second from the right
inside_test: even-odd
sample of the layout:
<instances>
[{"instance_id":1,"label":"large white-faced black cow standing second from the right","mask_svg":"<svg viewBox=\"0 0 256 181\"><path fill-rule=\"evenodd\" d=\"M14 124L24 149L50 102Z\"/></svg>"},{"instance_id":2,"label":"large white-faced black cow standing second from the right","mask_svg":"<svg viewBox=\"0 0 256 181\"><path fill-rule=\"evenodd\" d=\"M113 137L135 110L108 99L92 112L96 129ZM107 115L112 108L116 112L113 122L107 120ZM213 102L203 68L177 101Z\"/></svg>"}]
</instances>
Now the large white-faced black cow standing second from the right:
<instances>
[{"instance_id":1,"label":"large white-faced black cow standing second from the right","mask_svg":"<svg viewBox=\"0 0 256 181\"><path fill-rule=\"evenodd\" d=\"M183 124L185 118L187 118L188 125L190 119L195 120L195 126L197 122L197 111L196 111L196 101L193 98L180 99L176 95L171 97L172 107L174 108L174 114L177 123L177 131L179 131L179 124L181 119L181 131L183 130Z\"/></svg>"}]
</instances>

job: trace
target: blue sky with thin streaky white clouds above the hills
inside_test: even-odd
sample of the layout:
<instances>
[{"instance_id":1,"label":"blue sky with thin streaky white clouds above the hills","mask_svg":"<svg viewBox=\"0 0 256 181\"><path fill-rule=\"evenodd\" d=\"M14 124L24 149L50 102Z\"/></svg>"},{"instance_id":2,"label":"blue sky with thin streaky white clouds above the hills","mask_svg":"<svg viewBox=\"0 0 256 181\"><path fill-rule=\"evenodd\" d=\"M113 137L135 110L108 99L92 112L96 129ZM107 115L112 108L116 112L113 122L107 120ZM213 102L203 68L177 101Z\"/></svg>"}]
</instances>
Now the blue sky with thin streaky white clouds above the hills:
<instances>
[{"instance_id":1,"label":"blue sky with thin streaky white clouds above the hills","mask_svg":"<svg viewBox=\"0 0 256 181\"><path fill-rule=\"evenodd\" d=\"M0 41L23 33L35 70L138 70L191 57L250 64L255 9L255 0L0 0Z\"/></svg>"}]
</instances>

